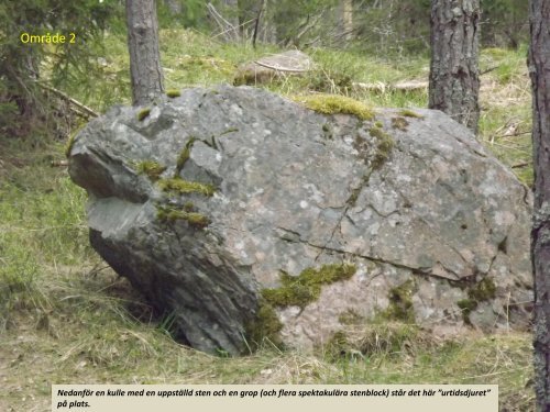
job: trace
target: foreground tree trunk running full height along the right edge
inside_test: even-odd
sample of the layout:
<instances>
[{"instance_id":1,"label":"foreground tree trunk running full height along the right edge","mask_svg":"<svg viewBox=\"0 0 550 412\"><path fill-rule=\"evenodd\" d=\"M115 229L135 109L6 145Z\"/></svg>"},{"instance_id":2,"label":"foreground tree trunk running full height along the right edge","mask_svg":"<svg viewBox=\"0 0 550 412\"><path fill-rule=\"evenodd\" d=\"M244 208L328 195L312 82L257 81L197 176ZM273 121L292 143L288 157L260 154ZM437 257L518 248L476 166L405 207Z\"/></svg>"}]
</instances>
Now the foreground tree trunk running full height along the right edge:
<instances>
[{"instance_id":1,"label":"foreground tree trunk running full height along the right edge","mask_svg":"<svg viewBox=\"0 0 550 412\"><path fill-rule=\"evenodd\" d=\"M540 411L550 411L550 0L530 0L535 218L535 391Z\"/></svg>"}]
</instances>

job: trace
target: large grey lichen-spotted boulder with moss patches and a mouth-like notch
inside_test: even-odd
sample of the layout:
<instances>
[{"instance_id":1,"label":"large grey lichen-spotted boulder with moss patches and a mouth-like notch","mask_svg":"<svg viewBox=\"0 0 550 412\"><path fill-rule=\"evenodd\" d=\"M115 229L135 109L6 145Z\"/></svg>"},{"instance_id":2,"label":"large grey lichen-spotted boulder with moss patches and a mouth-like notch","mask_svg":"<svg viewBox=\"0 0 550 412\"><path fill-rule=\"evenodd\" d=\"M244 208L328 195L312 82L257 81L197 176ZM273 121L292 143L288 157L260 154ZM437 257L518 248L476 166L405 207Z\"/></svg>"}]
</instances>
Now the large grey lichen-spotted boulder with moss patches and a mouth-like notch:
<instances>
[{"instance_id":1,"label":"large grey lichen-spotted boulder with moss patches and a mouth-like notch","mask_svg":"<svg viewBox=\"0 0 550 412\"><path fill-rule=\"evenodd\" d=\"M350 319L528 325L530 192L446 114L170 96L90 122L69 172L95 249L191 346L308 348Z\"/></svg>"}]
</instances>

